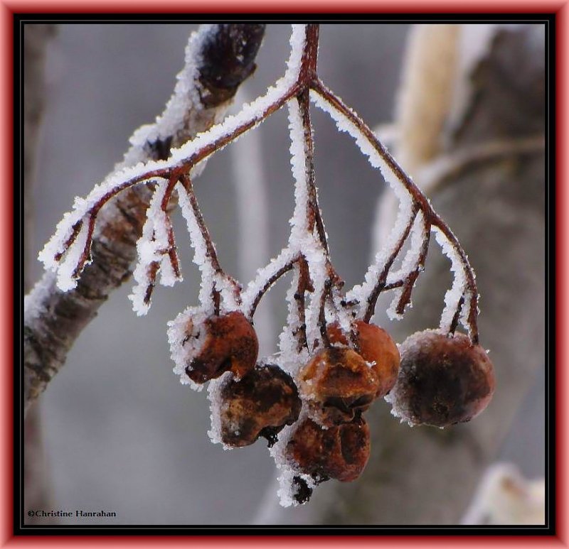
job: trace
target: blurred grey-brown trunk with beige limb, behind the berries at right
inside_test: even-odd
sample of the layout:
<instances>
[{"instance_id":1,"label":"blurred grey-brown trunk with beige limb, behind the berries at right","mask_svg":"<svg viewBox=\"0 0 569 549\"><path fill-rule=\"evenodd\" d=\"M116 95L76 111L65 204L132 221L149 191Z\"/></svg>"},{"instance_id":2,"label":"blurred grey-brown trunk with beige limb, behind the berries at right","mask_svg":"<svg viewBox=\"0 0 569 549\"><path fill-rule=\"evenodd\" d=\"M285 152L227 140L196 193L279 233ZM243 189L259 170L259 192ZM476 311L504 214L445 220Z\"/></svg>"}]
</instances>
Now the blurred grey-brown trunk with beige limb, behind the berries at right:
<instances>
[{"instance_id":1,"label":"blurred grey-brown trunk with beige limb, behind the berries at right","mask_svg":"<svg viewBox=\"0 0 569 549\"><path fill-rule=\"evenodd\" d=\"M411 175L419 183L420 174L427 174L420 168L436 167L435 161L440 168L436 177L429 172L430 199L477 271L481 342L490 349L496 368L494 399L479 418L445 430L411 429L390 415L386 403L376 403L367 414L372 455L362 476L350 484L326 482L309 504L295 509L280 508L271 487L257 523L459 523L480 475L509 433L536 371L544 367L543 26L494 28L486 51L467 75L445 70L445 63L452 67L460 61L449 49L449 45L459 47L457 29L439 29L447 33L442 49L437 49L435 30L435 26L430 31L418 29L422 38L415 34L407 63L413 77L407 75L404 84L413 89L403 90L398 122L403 124L401 135L414 137L427 124L423 135L436 142L417 144L420 138L411 139L396 152L404 159L404 168L417 170ZM430 59L425 59L429 52ZM469 89L451 121L448 107L438 109L437 104L448 103L448 86L459 89L464 85L459 80L466 76ZM433 124L438 131L432 131ZM438 326L450 286L449 266L432 245L415 288L413 309L403 322L390 327L396 341ZM388 301L378 310L385 310ZM376 320L384 324L386 317L378 314Z\"/></svg>"}]
</instances>

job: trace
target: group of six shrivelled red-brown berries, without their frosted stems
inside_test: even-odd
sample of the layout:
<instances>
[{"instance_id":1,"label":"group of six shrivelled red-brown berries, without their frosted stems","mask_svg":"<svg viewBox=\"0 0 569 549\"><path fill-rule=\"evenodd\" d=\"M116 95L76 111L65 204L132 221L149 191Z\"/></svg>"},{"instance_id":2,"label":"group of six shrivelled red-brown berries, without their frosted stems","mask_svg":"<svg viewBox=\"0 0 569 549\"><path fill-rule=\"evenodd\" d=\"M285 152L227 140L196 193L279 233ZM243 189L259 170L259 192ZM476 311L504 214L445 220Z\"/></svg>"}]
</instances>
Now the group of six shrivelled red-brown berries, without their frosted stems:
<instances>
[{"instance_id":1,"label":"group of six shrivelled red-brown berries, without their frosted stems","mask_svg":"<svg viewBox=\"0 0 569 549\"><path fill-rule=\"evenodd\" d=\"M398 349L381 327L355 320L346 334L334 322L324 348L293 378L277 364L257 362L257 336L242 312L197 316L197 326L186 322L181 347L192 339L201 344L188 347L184 371L196 384L228 372L212 407L219 441L243 447L264 437L272 447L292 425L282 457L294 472L297 504L321 482L350 482L363 472L371 449L363 413L376 398L393 403L394 415L410 425L443 428L474 418L494 391L486 352L463 334L425 330Z\"/></svg>"}]
</instances>

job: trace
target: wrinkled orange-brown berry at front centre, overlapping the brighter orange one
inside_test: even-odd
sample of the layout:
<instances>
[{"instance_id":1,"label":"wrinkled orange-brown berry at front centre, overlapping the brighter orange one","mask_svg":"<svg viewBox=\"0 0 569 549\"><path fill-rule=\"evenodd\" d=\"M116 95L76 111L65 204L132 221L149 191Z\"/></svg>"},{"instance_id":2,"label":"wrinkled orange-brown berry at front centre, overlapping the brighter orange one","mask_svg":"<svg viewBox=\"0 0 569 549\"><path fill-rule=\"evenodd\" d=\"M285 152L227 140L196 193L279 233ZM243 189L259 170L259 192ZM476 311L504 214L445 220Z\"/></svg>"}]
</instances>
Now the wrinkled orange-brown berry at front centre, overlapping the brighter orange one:
<instances>
[{"instance_id":1,"label":"wrinkled orange-brown berry at front centre, overlapping the brighter orange one","mask_svg":"<svg viewBox=\"0 0 569 549\"><path fill-rule=\"evenodd\" d=\"M376 398L379 379L353 349L330 347L302 368L299 384L309 399L311 417L329 427L367 410Z\"/></svg>"}]
</instances>

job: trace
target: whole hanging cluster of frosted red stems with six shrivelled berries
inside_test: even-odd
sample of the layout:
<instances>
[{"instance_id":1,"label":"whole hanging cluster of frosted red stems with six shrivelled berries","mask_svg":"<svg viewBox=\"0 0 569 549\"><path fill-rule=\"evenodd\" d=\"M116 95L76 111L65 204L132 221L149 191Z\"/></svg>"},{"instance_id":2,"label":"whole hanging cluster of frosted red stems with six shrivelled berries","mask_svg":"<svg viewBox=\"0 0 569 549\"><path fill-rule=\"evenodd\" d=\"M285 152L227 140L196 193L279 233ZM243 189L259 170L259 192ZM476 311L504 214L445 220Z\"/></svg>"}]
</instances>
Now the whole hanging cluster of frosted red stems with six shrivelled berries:
<instances>
[{"instance_id":1,"label":"whole hanging cluster of frosted red stems with six shrivelled berries","mask_svg":"<svg viewBox=\"0 0 569 549\"><path fill-rule=\"evenodd\" d=\"M377 398L385 397L393 414L410 425L442 428L474 418L494 391L494 370L479 345L478 293L467 255L371 129L319 80L318 38L318 25L294 26L287 72L275 87L245 105L240 114L171 151L167 160L123 170L85 200L76 200L75 210L66 214L41 252L46 266L58 272L59 287L73 288L90 262L100 209L118 192L151 183L132 295L137 314L145 314L158 275L166 286L181 279L169 217L171 197L177 194L195 249L193 261L201 271L201 290L199 305L169 323L174 371L193 388L209 384L214 442L243 447L259 437L267 439L282 473L283 505L304 503L324 480L347 482L361 474L370 455L363 413ZM318 203L311 100L331 115L339 130L353 136L400 200L385 247L363 283L349 291L331 262ZM198 163L285 104L295 183L292 229L279 256L244 288L220 266L192 176ZM398 348L371 318L378 296L386 291L395 293L388 312L395 318L403 315L424 270L431 232L452 262L454 282L445 295L440 328L418 332ZM407 242L410 246L403 254ZM259 359L255 310L289 272L292 286L279 352ZM468 335L455 333L459 323Z\"/></svg>"}]
</instances>

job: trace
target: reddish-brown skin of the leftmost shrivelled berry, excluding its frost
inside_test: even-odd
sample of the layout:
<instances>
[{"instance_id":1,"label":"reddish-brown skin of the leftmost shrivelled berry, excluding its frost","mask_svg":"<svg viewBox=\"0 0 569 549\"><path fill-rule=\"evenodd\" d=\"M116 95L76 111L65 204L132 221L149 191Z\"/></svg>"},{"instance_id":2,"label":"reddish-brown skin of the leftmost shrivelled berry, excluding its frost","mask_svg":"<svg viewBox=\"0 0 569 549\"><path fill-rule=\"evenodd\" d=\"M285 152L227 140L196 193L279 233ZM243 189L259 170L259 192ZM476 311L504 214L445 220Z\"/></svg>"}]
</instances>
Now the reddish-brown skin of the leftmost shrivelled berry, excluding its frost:
<instances>
[{"instance_id":1,"label":"reddish-brown skin of the leftmost shrivelled berry, excluding its frost","mask_svg":"<svg viewBox=\"0 0 569 549\"><path fill-rule=\"evenodd\" d=\"M186 365L186 374L194 383L206 383L226 371L241 377L255 367L259 342L243 312L208 317L201 329L206 330L206 340ZM188 332L191 333L191 326Z\"/></svg>"}]
</instances>

